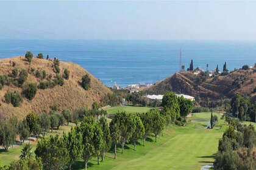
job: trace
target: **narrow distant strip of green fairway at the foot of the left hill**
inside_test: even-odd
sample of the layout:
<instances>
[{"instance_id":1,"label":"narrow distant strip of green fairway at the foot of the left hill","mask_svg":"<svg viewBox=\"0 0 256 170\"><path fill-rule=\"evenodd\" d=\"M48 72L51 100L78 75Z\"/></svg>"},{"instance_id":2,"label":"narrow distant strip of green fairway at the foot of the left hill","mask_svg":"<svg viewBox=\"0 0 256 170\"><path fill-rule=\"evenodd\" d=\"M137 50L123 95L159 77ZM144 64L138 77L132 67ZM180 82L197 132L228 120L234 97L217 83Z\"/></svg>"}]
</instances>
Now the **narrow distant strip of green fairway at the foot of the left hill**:
<instances>
[{"instance_id":1,"label":"narrow distant strip of green fairway at the foot of the left hill","mask_svg":"<svg viewBox=\"0 0 256 170\"><path fill-rule=\"evenodd\" d=\"M153 107L138 107L138 106L116 106L107 109L107 114L116 114L118 111L126 111L127 113L148 112Z\"/></svg>"}]
</instances>

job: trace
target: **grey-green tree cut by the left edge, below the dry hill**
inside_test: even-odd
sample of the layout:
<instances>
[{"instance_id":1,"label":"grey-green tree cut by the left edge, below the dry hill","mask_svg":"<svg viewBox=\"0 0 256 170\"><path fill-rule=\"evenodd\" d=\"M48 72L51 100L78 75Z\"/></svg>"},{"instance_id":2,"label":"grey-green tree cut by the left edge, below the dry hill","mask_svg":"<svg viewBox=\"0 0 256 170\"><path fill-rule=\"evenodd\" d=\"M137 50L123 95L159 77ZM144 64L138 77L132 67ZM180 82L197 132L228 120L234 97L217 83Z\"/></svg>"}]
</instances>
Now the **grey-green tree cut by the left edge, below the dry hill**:
<instances>
[{"instance_id":1,"label":"grey-green tree cut by the left edge, below the dry hill","mask_svg":"<svg viewBox=\"0 0 256 170\"><path fill-rule=\"evenodd\" d=\"M0 123L0 145L4 147L4 151L15 144L16 127L9 121L1 121Z\"/></svg>"}]
</instances>

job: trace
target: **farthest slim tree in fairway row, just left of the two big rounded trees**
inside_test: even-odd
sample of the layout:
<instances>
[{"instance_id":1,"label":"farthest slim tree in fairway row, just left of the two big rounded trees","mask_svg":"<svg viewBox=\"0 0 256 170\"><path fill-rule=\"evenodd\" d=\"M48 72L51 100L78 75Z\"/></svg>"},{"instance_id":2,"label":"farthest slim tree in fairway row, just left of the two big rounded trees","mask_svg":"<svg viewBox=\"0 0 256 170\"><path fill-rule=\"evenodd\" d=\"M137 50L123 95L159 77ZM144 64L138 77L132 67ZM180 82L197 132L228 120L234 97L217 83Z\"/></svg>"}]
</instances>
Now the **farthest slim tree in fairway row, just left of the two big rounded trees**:
<instances>
[{"instance_id":1,"label":"farthest slim tree in fairway row, just left of the two big rounded trees","mask_svg":"<svg viewBox=\"0 0 256 170\"><path fill-rule=\"evenodd\" d=\"M157 142L157 135L159 135L163 131L163 127L165 126L165 120L161 117L159 111L157 109L151 110L152 117L152 132L155 135L155 142Z\"/></svg>"}]
</instances>

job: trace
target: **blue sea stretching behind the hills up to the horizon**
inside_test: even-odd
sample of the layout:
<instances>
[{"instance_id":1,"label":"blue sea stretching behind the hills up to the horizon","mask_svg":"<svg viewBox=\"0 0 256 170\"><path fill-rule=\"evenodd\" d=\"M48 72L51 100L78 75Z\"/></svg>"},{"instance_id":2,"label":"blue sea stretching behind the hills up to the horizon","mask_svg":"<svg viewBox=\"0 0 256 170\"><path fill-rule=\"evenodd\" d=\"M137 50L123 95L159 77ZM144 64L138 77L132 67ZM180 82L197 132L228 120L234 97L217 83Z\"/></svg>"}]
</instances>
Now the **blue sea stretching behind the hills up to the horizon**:
<instances>
[{"instance_id":1,"label":"blue sea stretching behind the hills up to the horizon","mask_svg":"<svg viewBox=\"0 0 256 170\"><path fill-rule=\"evenodd\" d=\"M109 87L154 84L179 72L180 56L186 69L191 60L204 70L256 63L256 41L0 39L0 58L27 51L79 64Z\"/></svg>"}]
</instances>

